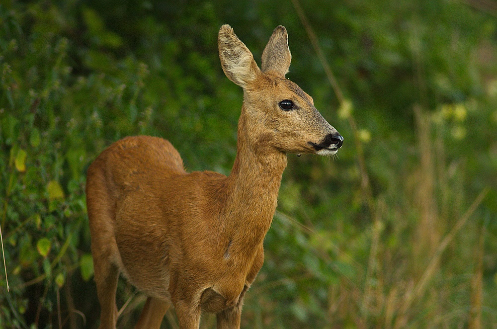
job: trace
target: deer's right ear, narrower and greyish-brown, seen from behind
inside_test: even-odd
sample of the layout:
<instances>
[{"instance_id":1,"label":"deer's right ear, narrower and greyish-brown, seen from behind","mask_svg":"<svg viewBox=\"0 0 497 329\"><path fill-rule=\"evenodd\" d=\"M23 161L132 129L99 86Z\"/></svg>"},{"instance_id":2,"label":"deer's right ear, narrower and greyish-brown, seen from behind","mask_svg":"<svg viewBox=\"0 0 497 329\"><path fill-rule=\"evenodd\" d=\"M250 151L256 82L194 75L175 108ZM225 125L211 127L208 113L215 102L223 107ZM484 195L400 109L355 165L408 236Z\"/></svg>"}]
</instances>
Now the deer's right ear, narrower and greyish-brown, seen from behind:
<instances>
[{"instance_id":1,"label":"deer's right ear, narrower and greyish-brown, seen from behind","mask_svg":"<svg viewBox=\"0 0 497 329\"><path fill-rule=\"evenodd\" d=\"M267 42L262 52L262 72L273 71L281 77L285 77L292 61L292 54L288 48L288 33L284 26L278 26Z\"/></svg>"}]
</instances>

